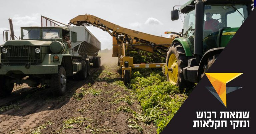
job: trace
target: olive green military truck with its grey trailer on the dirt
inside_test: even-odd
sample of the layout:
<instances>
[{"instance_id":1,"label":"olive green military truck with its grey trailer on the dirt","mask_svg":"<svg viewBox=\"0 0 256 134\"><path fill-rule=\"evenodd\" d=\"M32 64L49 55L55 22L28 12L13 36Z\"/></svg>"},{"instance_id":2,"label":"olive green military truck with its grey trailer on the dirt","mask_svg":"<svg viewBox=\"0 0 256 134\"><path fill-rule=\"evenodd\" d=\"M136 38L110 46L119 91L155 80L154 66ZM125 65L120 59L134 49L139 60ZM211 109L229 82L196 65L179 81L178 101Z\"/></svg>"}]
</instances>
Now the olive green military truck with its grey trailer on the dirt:
<instances>
[{"instance_id":1,"label":"olive green military truck with its grey trailer on the dirt","mask_svg":"<svg viewBox=\"0 0 256 134\"><path fill-rule=\"evenodd\" d=\"M63 41L67 34L71 49ZM21 27L20 40L6 41L5 35L0 46L0 96L22 83L50 85L52 93L60 96L66 91L67 77L84 80L90 75L90 63L100 67L100 41L85 27Z\"/></svg>"}]
</instances>

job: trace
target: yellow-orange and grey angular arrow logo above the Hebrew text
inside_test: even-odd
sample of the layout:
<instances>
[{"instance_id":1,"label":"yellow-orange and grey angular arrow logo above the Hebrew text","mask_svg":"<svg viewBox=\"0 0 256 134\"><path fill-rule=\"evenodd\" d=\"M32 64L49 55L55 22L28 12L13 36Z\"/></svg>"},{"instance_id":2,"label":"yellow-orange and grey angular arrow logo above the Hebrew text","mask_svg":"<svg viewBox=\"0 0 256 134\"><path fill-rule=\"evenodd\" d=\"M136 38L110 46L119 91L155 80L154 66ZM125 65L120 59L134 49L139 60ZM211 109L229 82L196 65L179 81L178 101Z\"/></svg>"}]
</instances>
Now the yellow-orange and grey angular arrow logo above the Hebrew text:
<instances>
[{"instance_id":1,"label":"yellow-orange and grey angular arrow logo above the Hebrew text","mask_svg":"<svg viewBox=\"0 0 256 134\"><path fill-rule=\"evenodd\" d=\"M213 86L206 87L225 107L226 95L242 87L226 87L226 84L243 73L205 73Z\"/></svg>"}]
</instances>

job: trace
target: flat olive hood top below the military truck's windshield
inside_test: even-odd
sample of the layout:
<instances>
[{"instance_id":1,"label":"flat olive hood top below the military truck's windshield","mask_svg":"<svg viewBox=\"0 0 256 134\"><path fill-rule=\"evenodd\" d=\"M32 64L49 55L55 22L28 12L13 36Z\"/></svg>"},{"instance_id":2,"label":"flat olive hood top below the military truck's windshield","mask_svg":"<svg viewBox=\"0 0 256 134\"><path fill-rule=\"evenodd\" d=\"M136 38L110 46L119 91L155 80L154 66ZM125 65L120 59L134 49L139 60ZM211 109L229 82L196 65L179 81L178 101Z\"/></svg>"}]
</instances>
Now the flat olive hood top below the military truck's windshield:
<instances>
[{"instance_id":1,"label":"flat olive hood top below the military truck's windshield","mask_svg":"<svg viewBox=\"0 0 256 134\"><path fill-rule=\"evenodd\" d=\"M9 40L1 46L50 46L52 41Z\"/></svg>"}]
</instances>

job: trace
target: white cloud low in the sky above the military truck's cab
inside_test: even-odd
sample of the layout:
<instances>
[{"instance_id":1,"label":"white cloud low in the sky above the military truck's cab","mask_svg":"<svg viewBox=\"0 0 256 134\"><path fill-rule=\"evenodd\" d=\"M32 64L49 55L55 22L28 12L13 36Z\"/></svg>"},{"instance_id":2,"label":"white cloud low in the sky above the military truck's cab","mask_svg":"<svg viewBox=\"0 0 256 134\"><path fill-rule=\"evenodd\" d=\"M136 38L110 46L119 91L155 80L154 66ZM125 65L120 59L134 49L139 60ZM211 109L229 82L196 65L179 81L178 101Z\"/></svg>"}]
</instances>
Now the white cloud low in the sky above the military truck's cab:
<instances>
[{"instance_id":1,"label":"white cloud low in the sky above the military truck's cab","mask_svg":"<svg viewBox=\"0 0 256 134\"><path fill-rule=\"evenodd\" d=\"M31 16L14 15L14 17L12 17L13 25L16 25L16 26L40 26L39 20L40 20L39 14L33 14Z\"/></svg>"}]
</instances>

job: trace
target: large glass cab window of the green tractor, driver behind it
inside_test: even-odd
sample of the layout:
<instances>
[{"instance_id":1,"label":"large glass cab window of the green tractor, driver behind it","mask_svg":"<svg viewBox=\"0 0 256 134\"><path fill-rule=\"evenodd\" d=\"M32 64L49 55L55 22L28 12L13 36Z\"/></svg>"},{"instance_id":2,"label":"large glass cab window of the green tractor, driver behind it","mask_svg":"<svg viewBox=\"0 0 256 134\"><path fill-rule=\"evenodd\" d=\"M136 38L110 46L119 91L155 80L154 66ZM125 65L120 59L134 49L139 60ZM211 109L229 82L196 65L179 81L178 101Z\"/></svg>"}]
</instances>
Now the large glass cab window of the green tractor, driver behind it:
<instances>
[{"instance_id":1,"label":"large glass cab window of the green tractor, driver behind it","mask_svg":"<svg viewBox=\"0 0 256 134\"><path fill-rule=\"evenodd\" d=\"M221 46L221 32L233 34L248 16L247 5L205 5L204 10L204 53ZM233 28L233 29L232 29ZM227 40L226 38L224 38ZM230 38L231 39L231 38ZM230 40L228 39L228 41ZM227 41L227 42L228 42Z\"/></svg>"}]
</instances>

